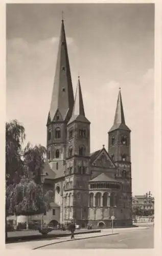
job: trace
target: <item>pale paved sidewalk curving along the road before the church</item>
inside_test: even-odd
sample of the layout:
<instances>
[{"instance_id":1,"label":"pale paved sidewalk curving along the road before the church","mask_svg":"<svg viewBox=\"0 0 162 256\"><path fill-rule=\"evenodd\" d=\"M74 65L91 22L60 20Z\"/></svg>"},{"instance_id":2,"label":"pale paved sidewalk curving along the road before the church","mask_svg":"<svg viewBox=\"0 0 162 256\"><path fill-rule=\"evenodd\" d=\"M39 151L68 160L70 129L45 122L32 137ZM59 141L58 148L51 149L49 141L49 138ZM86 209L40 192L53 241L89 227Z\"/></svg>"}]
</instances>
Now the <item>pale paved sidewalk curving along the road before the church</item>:
<instances>
[{"instance_id":1,"label":"pale paved sidewalk curving along the road before the church","mask_svg":"<svg viewBox=\"0 0 162 256\"><path fill-rule=\"evenodd\" d=\"M132 227L132 228L115 228L113 229L113 234L121 233L124 231L135 231L139 229L146 229L146 227ZM75 239L86 239L86 238L95 238L95 237L102 237L102 236L109 236L112 234L111 229L102 229L101 233L87 233L87 234L76 234ZM37 247L55 244L55 243L62 243L71 241L69 237L62 237L62 238L55 238L52 240L39 240L39 241L30 241L30 242L21 242L21 243L12 243L6 244L6 249L36 249Z\"/></svg>"}]
</instances>

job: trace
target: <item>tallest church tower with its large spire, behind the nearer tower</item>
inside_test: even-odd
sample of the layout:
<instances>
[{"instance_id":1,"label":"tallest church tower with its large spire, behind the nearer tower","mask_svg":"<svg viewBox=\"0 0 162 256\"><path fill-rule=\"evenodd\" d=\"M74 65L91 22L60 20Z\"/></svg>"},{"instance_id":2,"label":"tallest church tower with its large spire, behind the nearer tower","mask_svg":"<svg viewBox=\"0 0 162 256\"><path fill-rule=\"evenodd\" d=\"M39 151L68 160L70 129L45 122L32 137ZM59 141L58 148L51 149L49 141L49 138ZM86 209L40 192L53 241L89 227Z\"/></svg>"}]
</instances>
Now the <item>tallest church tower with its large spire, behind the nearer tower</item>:
<instances>
[{"instance_id":1,"label":"tallest church tower with its large spire, behind the nearer tower","mask_svg":"<svg viewBox=\"0 0 162 256\"><path fill-rule=\"evenodd\" d=\"M47 122L47 158L53 169L65 169L66 127L72 116L74 94L62 19L50 111Z\"/></svg>"}]
</instances>

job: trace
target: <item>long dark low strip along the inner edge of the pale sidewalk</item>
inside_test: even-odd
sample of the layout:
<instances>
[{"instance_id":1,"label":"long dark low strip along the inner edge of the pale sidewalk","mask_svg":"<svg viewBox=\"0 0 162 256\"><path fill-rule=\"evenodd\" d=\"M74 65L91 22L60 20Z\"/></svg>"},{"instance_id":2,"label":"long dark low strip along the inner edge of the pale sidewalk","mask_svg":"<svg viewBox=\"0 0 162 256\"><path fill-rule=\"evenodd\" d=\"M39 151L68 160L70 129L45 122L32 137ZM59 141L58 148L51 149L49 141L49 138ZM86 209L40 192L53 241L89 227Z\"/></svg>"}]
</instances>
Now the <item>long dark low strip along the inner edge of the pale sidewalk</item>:
<instances>
[{"instance_id":1,"label":"long dark low strip along the inner edge of the pale sidewalk","mask_svg":"<svg viewBox=\"0 0 162 256\"><path fill-rule=\"evenodd\" d=\"M75 232L75 234L89 234L89 233L99 233L101 232L100 229L98 230L91 230L91 231L83 231L83 232ZM68 237L71 236L71 233L64 233L64 234L47 234L47 235L42 235L42 234L34 234L34 235L29 235L29 236L17 236L17 237L9 237L7 239L6 244L9 243L16 243L16 242L28 242L28 241L33 241L33 240L42 240L42 239L55 239L55 238L61 238L61 237Z\"/></svg>"}]
</instances>

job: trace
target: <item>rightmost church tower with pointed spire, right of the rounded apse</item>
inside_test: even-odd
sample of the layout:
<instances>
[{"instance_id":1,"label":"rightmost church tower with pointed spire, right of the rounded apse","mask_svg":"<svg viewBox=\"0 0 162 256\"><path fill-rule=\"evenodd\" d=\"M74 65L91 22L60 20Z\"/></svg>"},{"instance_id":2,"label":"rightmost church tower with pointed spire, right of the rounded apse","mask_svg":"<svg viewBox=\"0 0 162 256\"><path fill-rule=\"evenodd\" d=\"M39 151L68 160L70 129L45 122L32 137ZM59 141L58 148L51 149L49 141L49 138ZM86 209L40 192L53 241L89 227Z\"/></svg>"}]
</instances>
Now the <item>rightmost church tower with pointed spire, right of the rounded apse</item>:
<instances>
[{"instance_id":1,"label":"rightmost church tower with pointed spire, right of the rounded apse","mask_svg":"<svg viewBox=\"0 0 162 256\"><path fill-rule=\"evenodd\" d=\"M114 122L108 132L108 153L117 166L116 178L122 182L120 197L121 225L131 225L132 223L130 132L125 123L120 89Z\"/></svg>"}]
</instances>

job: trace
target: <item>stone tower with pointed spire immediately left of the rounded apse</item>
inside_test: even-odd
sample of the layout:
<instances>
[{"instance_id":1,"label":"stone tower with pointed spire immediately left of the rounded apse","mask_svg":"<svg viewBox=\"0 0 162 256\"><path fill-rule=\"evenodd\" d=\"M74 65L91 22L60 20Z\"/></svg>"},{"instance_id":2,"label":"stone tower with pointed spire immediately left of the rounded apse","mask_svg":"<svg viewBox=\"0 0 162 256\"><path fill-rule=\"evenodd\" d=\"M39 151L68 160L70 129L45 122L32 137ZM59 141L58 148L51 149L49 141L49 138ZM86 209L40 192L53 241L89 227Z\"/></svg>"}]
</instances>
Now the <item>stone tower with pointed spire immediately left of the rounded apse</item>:
<instances>
[{"instance_id":1,"label":"stone tower with pointed spire immediately left of the rounded apse","mask_svg":"<svg viewBox=\"0 0 162 256\"><path fill-rule=\"evenodd\" d=\"M67 124L64 221L84 226L88 219L88 181L90 179L90 122L85 117L80 78L73 113Z\"/></svg>"}]
</instances>

